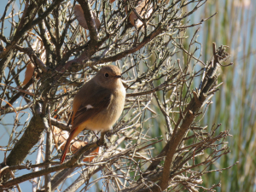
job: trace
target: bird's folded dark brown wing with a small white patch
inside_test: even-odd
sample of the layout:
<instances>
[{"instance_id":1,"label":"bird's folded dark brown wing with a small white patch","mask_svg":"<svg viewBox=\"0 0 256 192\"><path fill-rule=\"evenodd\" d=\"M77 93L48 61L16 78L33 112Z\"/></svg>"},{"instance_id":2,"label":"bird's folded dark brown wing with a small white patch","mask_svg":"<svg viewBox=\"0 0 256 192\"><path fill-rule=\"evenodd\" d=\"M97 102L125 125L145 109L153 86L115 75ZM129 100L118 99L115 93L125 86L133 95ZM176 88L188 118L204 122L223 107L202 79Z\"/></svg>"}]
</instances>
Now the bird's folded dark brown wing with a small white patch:
<instances>
[{"instance_id":1,"label":"bird's folded dark brown wing with a small white patch","mask_svg":"<svg viewBox=\"0 0 256 192\"><path fill-rule=\"evenodd\" d=\"M108 108L112 92L108 89L101 89L100 91L94 91L92 94L85 94L87 96L84 102L80 105L78 111L73 114L73 129L78 125L93 118L97 113L100 113L103 109ZM72 129L72 130L73 130Z\"/></svg>"}]
</instances>

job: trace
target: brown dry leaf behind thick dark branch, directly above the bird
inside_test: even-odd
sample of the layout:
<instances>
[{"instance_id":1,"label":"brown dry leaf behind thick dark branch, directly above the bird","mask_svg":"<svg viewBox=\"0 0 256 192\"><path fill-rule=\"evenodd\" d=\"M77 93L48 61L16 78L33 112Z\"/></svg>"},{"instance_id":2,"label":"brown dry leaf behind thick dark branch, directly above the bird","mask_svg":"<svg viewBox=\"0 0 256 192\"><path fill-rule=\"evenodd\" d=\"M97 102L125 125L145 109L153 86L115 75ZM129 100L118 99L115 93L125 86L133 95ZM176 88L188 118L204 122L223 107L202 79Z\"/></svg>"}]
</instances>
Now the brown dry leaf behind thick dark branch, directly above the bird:
<instances>
[{"instance_id":1,"label":"brown dry leaf behind thick dark branch, directly above the bird","mask_svg":"<svg viewBox=\"0 0 256 192\"><path fill-rule=\"evenodd\" d=\"M76 4L73 9L74 15L76 15L77 20L79 20L79 25L84 27L84 29L88 29L86 20L84 18L84 11L79 4ZM101 26L100 20L96 17L96 14L93 12L93 17L96 23L97 29Z\"/></svg>"}]
</instances>

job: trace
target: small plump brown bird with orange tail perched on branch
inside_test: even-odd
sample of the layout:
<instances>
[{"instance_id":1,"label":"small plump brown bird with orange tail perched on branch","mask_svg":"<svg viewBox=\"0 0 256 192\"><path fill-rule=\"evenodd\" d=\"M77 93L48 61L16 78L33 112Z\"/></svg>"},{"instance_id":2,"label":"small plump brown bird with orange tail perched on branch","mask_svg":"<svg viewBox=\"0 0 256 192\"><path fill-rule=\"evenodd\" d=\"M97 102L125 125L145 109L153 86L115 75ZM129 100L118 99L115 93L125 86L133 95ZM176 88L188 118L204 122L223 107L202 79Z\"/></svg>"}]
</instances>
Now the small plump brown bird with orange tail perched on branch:
<instances>
[{"instance_id":1,"label":"small plump brown bird with orange tail perched on branch","mask_svg":"<svg viewBox=\"0 0 256 192\"><path fill-rule=\"evenodd\" d=\"M86 82L73 99L72 129L61 155L65 160L67 149L74 137L84 128L108 131L119 119L125 106L125 87L119 67L102 67L96 76Z\"/></svg>"}]
</instances>

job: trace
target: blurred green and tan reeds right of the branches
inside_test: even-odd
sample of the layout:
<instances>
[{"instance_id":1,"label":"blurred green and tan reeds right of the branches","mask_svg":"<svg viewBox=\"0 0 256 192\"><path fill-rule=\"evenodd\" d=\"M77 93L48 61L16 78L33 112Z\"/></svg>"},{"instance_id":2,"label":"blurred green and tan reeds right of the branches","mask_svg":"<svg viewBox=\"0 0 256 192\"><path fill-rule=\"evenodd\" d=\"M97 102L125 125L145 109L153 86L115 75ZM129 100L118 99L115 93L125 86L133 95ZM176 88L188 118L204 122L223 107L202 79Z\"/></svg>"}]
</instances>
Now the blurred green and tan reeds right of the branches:
<instances>
[{"instance_id":1,"label":"blurred green and tan reeds right of the branches","mask_svg":"<svg viewBox=\"0 0 256 192\"><path fill-rule=\"evenodd\" d=\"M216 167L233 168L222 173L207 174L203 178L206 186L221 181L218 191L255 191L256 177L256 15L255 1L211 0L201 13L191 20L218 15L202 25L200 36L203 44L202 58L206 61L212 54L212 42L230 46L230 62L233 67L221 67L219 81L224 84L213 103L205 122L221 123L221 129L229 130L231 153L216 162ZM253 43L254 42L254 43Z\"/></svg>"}]
</instances>

